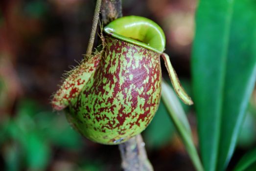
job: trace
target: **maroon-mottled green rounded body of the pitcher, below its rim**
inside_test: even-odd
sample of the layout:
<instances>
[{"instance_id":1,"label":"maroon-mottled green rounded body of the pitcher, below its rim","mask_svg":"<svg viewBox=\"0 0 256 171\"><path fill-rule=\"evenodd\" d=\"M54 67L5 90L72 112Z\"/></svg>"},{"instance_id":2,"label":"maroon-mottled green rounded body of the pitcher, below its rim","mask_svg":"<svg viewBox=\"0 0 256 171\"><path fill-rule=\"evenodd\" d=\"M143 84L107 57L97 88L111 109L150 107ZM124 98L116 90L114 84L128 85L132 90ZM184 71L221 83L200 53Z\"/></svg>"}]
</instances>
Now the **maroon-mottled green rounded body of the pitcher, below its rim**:
<instances>
[{"instance_id":1,"label":"maroon-mottled green rounded body of the pitcher, below its rim","mask_svg":"<svg viewBox=\"0 0 256 171\"><path fill-rule=\"evenodd\" d=\"M100 64L67 117L89 139L118 144L145 129L158 108L160 54L111 37L106 41Z\"/></svg>"}]
</instances>

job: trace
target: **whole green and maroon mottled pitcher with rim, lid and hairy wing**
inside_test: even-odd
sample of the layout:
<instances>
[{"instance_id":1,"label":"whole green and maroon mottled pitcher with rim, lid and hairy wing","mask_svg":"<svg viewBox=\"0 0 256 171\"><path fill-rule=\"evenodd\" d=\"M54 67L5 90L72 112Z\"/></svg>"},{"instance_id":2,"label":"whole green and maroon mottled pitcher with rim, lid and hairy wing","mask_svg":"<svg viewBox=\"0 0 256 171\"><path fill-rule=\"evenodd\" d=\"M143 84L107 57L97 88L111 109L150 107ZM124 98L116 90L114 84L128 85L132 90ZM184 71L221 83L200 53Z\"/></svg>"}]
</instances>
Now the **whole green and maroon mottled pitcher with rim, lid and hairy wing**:
<instances>
[{"instance_id":1,"label":"whole green and maroon mottled pitcher with rim, lid and hairy wing","mask_svg":"<svg viewBox=\"0 0 256 171\"><path fill-rule=\"evenodd\" d=\"M163 53L165 37L159 25L128 16L103 31L103 50L74 68L52 100L55 110L66 108L68 121L82 135L120 144L148 126L160 103L160 56L178 96L193 103Z\"/></svg>"}]
</instances>

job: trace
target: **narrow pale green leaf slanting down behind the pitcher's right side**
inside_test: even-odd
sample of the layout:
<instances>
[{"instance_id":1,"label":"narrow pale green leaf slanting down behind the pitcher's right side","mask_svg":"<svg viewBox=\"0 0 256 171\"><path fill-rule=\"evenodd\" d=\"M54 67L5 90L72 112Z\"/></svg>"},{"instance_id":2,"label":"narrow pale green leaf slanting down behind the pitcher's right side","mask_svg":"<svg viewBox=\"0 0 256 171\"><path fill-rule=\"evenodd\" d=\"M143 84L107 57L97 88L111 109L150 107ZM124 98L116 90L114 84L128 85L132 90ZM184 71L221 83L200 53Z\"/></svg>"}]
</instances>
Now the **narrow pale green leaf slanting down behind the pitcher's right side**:
<instances>
[{"instance_id":1,"label":"narrow pale green leaf slanting down behind the pitcher's right side","mask_svg":"<svg viewBox=\"0 0 256 171\"><path fill-rule=\"evenodd\" d=\"M195 168L197 171L203 171L204 169L193 143L191 129L186 114L173 89L164 81L162 83L162 100Z\"/></svg>"}]
</instances>

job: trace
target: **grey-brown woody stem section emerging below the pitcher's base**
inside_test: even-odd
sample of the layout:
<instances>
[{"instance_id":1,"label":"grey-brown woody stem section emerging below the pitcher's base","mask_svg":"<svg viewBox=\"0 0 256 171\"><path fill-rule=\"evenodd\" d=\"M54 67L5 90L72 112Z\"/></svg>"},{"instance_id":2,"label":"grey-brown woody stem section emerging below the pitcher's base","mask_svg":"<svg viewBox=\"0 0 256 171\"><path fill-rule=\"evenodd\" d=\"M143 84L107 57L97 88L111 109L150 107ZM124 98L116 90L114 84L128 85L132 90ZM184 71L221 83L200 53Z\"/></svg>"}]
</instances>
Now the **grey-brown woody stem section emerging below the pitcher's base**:
<instances>
[{"instance_id":1,"label":"grey-brown woody stem section emerging below the pitcher's base","mask_svg":"<svg viewBox=\"0 0 256 171\"><path fill-rule=\"evenodd\" d=\"M153 171L141 135L119 145L124 171Z\"/></svg>"}]
</instances>

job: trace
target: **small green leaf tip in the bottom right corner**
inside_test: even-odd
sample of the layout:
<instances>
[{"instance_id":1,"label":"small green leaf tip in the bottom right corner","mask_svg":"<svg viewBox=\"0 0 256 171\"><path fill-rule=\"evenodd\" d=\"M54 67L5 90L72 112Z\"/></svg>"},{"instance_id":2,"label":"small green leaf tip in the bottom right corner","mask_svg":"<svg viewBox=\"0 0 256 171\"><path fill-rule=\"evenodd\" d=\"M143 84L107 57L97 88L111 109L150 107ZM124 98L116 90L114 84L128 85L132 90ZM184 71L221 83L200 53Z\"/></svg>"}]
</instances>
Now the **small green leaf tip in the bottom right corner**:
<instances>
[{"instance_id":1,"label":"small green leaf tip in the bottom right corner","mask_svg":"<svg viewBox=\"0 0 256 171\"><path fill-rule=\"evenodd\" d=\"M237 163L234 171L256 170L256 149L246 153Z\"/></svg>"}]
</instances>

